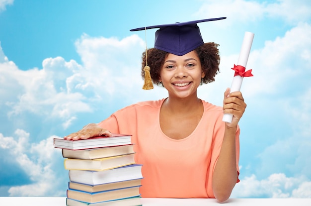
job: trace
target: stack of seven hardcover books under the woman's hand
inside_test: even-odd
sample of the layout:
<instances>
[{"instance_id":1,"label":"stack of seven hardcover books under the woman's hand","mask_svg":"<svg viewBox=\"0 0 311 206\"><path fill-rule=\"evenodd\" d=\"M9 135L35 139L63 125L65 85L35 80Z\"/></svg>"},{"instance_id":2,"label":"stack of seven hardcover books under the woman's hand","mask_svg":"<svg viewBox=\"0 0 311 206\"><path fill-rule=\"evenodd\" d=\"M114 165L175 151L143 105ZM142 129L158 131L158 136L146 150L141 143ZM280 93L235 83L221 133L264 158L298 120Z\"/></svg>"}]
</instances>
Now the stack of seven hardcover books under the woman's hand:
<instances>
[{"instance_id":1,"label":"stack of seven hardcover books under the woman's hand","mask_svg":"<svg viewBox=\"0 0 311 206\"><path fill-rule=\"evenodd\" d=\"M67 206L141 206L142 165L135 164L131 135L53 143L69 170Z\"/></svg>"}]
</instances>

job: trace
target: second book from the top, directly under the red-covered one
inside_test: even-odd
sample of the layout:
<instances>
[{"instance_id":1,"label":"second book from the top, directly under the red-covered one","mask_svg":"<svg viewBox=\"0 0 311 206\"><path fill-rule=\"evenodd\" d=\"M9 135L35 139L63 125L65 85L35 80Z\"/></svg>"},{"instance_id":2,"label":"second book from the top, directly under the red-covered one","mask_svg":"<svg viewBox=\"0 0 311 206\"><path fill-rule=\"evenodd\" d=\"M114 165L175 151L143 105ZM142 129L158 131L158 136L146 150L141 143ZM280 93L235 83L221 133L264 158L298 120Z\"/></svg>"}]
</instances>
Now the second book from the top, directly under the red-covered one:
<instances>
[{"instance_id":1,"label":"second book from the top, directly under the red-covered one","mask_svg":"<svg viewBox=\"0 0 311 206\"><path fill-rule=\"evenodd\" d=\"M105 157L133 154L133 147L133 144L128 144L83 150L62 149L62 155L64 158L92 160Z\"/></svg>"}]
</instances>

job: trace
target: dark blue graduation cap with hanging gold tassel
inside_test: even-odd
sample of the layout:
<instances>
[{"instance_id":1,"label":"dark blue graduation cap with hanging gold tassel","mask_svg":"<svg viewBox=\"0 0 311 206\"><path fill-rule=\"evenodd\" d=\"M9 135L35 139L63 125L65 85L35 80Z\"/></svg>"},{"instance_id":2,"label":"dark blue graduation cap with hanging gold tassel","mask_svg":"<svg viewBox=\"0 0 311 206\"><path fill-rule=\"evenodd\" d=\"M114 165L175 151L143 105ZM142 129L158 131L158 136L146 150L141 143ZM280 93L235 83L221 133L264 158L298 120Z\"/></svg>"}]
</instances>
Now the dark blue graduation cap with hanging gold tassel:
<instances>
[{"instance_id":1,"label":"dark blue graduation cap with hanging gold tassel","mask_svg":"<svg viewBox=\"0 0 311 206\"><path fill-rule=\"evenodd\" d=\"M208 18L208 19L187 21L187 22L181 22L181 23L177 22L177 23L171 23L171 24L146 26L146 27L131 29L130 31L141 31L141 30L158 28L158 30L156 30L155 48L162 50L162 51L166 51L168 53L178 55L178 56L182 56L204 44L200 29L197 23L206 22L206 21L216 21L216 20L221 20L225 18L226 17ZM146 58L147 58L147 52L146 52ZM153 89L151 77L149 77L150 67L146 65L144 70L145 70L145 85L143 89Z\"/></svg>"}]
</instances>

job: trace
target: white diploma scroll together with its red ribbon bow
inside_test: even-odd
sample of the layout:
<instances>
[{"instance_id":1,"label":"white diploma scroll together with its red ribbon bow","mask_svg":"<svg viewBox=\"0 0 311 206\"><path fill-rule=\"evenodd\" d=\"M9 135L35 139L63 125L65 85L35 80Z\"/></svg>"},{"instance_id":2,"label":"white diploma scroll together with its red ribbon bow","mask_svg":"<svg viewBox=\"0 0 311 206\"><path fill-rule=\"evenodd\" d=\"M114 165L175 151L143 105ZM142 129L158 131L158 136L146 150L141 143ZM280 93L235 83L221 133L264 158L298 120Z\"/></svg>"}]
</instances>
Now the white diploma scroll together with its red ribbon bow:
<instances>
[{"instance_id":1,"label":"white diploma scroll together with its red ribbon bow","mask_svg":"<svg viewBox=\"0 0 311 206\"><path fill-rule=\"evenodd\" d=\"M232 85L230 89L231 93L240 91L244 77L253 76L251 74L251 70L248 70L245 72L245 68L246 68L251 44L253 43L253 39L254 39L254 33L246 31L244 35L241 51L240 51L240 54L237 60L237 65L236 66L234 65L234 68L232 68L235 71L235 73L234 73L234 77L233 77L233 81L232 81ZM233 118L232 114L224 114L223 121L231 123L232 118Z\"/></svg>"}]
</instances>

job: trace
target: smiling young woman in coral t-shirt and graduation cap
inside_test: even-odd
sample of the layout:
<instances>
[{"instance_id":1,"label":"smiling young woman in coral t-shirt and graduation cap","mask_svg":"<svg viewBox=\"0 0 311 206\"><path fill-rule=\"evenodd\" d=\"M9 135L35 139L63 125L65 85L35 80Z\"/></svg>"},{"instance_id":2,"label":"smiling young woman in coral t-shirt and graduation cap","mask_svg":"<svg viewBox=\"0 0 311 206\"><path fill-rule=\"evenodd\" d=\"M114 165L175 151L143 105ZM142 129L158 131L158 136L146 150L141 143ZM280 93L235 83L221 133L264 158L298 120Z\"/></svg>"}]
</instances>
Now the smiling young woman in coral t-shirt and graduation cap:
<instances>
[{"instance_id":1,"label":"smiling young woman in coral t-shirt and graduation cap","mask_svg":"<svg viewBox=\"0 0 311 206\"><path fill-rule=\"evenodd\" d=\"M143 198L216 198L223 202L239 181L238 121L246 108L243 97L227 89L223 107L197 97L197 88L213 82L219 71L218 44L204 43L196 24L209 20L157 26L155 48L143 53L142 75L148 62L153 83L167 90L167 98L127 106L64 137L132 134L135 160L143 164ZM172 51L171 45L183 42L190 44ZM222 121L224 113L233 114L232 123Z\"/></svg>"}]
</instances>

